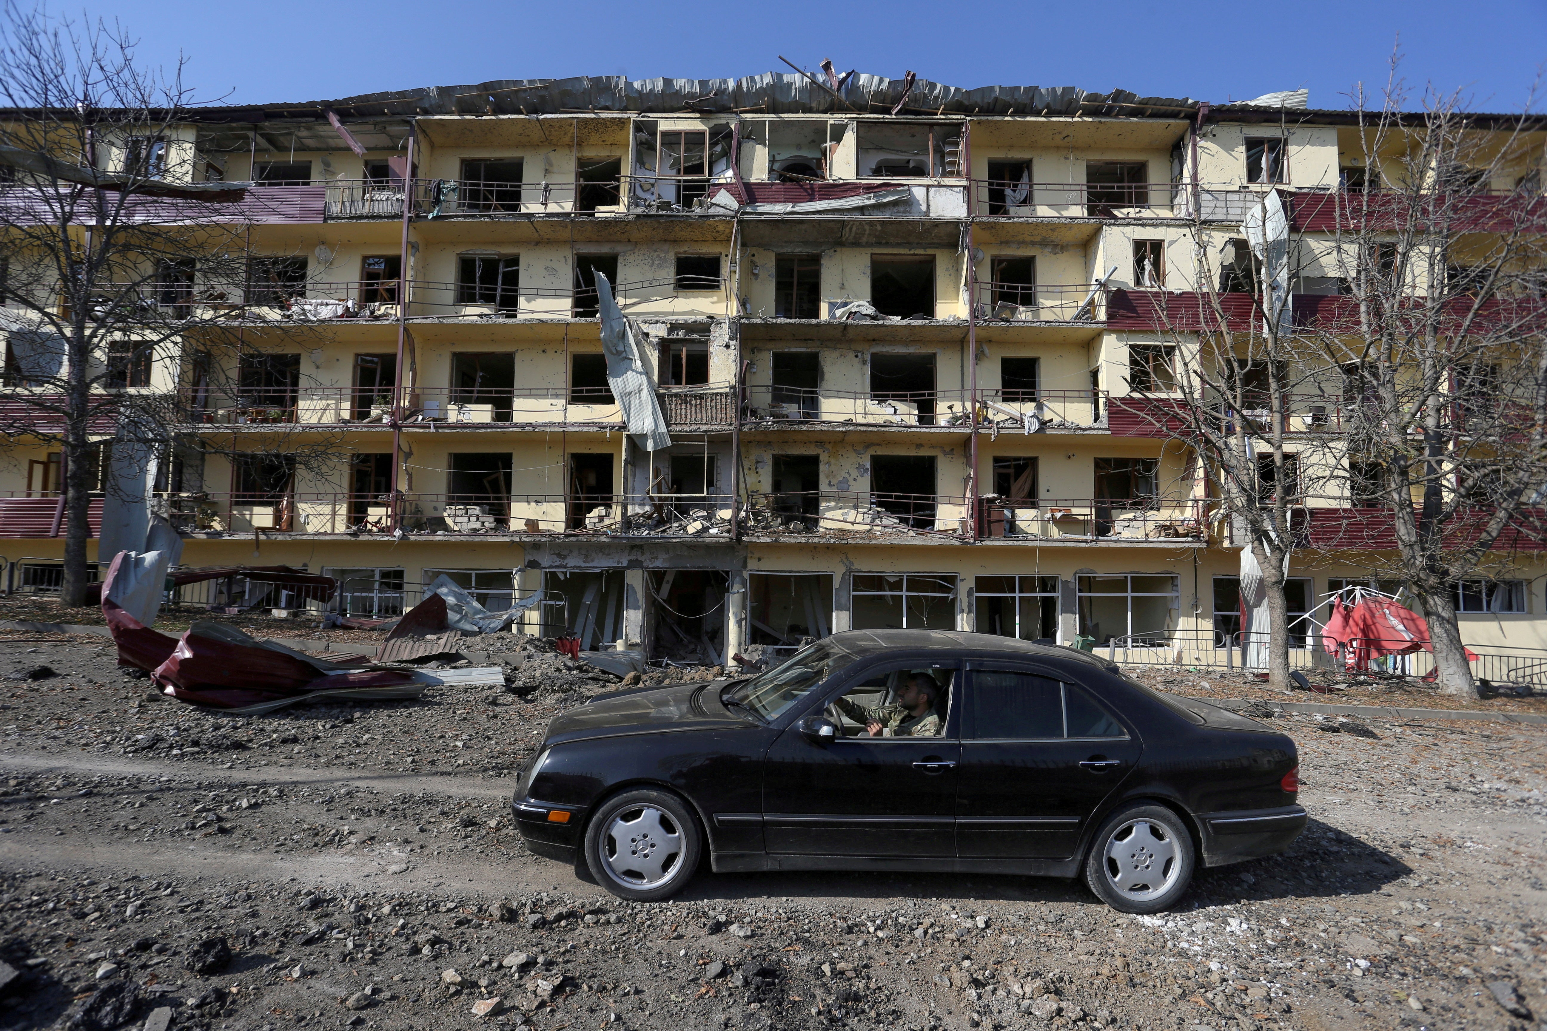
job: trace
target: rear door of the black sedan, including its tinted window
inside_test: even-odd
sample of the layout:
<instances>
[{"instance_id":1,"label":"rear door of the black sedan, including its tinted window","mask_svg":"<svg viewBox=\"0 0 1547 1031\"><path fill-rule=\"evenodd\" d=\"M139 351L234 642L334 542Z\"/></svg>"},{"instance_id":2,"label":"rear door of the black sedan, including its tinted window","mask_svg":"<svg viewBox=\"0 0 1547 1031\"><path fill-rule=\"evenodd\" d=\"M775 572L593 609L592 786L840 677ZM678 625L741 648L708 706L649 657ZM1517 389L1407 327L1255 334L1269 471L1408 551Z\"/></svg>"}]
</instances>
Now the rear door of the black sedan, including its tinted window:
<instances>
[{"instance_id":1,"label":"rear door of the black sedan, including its tinted window","mask_svg":"<svg viewBox=\"0 0 1547 1031\"><path fill-rule=\"evenodd\" d=\"M1029 666L968 663L961 703L956 853L1064 859L1143 751L1075 683Z\"/></svg>"}]
</instances>

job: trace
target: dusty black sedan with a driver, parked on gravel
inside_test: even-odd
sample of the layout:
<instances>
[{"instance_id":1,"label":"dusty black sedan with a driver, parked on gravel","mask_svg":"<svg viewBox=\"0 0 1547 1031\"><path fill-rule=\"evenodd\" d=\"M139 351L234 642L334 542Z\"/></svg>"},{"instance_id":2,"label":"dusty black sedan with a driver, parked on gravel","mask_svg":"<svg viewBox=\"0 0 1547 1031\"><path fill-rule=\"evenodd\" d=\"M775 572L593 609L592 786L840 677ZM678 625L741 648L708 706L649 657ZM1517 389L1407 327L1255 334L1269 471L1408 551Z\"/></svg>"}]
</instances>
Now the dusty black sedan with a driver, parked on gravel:
<instances>
[{"instance_id":1,"label":"dusty black sedan with a driver, parked on gravel","mask_svg":"<svg viewBox=\"0 0 1547 1031\"><path fill-rule=\"evenodd\" d=\"M622 898L724 870L1084 876L1125 912L1306 825L1295 742L1069 648L849 631L756 677L557 716L514 812Z\"/></svg>"}]
</instances>

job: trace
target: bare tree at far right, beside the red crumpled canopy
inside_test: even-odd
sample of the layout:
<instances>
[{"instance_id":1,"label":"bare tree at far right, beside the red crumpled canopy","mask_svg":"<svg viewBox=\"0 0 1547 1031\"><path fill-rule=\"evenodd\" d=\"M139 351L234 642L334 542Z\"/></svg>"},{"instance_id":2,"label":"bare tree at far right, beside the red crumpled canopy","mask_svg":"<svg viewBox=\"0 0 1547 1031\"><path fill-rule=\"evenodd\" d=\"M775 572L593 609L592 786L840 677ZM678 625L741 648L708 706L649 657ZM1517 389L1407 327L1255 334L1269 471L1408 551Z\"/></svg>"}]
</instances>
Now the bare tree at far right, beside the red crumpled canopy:
<instances>
[{"instance_id":1,"label":"bare tree at far right, beside the red crumpled canopy","mask_svg":"<svg viewBox=\"0 0 1547 1031\"><path fill-rule=\"evenodd\" d=\"M1474 696L1457 586L1539 541L1532 505L1547 484L1542 125L1468 113L1459 96L1403 113L1405 99L1395 79L1378 108L1355 96L1363 172L1318 215L1343 295L1301 320L1296 359L1326 371L1344 504L1378 513L1321 544L1402 580L1440 689Z\"/></svg>"}]
</instances>

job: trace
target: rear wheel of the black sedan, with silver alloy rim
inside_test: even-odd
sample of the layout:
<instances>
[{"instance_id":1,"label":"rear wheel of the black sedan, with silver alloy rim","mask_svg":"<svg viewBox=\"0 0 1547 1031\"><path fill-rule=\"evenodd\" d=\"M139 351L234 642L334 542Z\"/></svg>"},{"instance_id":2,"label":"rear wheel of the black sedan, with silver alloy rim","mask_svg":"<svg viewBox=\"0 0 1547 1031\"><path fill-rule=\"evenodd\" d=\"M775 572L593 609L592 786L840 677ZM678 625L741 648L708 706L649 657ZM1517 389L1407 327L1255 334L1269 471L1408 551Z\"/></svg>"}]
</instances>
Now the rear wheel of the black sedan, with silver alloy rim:
<instances>
[{"instance_id":1,"label":"rear wheel of the black sedan, with silver alloy rim","mask_svg":"<svg viewBox=\"0 0 1547 1031\"><path fill-rule=\"evenodd\" d=\"M1101 822L1084 859L1084 883L1125 914L1174 906L1193 881L1193 836L1163 805L1129 805Z\"/></svg>"}]
</instances>

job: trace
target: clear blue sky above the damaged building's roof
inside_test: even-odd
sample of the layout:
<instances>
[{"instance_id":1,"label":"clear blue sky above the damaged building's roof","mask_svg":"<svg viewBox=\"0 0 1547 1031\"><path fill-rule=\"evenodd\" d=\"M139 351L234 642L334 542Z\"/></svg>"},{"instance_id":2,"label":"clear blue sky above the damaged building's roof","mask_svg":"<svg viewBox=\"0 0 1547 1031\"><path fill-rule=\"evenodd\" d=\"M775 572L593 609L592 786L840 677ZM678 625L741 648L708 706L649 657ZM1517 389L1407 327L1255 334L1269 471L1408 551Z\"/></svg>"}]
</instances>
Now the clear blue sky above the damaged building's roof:
<instances>
[{"instance_id":1,"label":"clear blue sky above the damaged building's roof","mask_svg":"<svg viewBox=\"0 0 1547 1031\"><path fill-rule=\"evenodd\" d=\"M1343 108L1355 82L1385 83L1400 46L1416 97L1433 85L1463 90L1474 110L1515 111L1547 63L1547 0L91 0L84 12L118 19L141 40L142 62L170 66L184 56L186 82L206 99L232 104L489 79L735 77L787 71L783 54L811 70L831 57L840 71L900 77L911 68L967 88L1122 87L1216 104L1307 87L1312 107Z\"/></svg>"}]
</instances>

